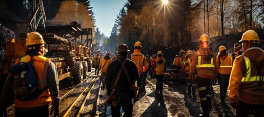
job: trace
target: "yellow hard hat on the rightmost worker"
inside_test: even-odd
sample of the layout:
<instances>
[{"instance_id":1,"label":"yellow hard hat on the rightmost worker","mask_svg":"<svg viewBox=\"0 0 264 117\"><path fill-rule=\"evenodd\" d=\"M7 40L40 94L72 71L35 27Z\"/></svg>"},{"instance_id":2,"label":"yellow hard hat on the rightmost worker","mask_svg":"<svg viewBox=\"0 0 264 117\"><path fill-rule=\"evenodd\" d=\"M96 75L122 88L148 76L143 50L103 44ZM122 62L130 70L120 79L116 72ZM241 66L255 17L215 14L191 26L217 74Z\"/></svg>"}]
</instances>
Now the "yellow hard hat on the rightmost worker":
<instances>
[{"instance_id":1,"label":"yellow hard hat on the rightmost worker","mask_svg":"<svg viewBox=\"0 0 264 117\"><path fill-rule=\"evenodd\" d=\"M260 41L258 34L254 30L247 30L243 33L242 38L240 41L248 40L248 41Z\"/></svg>"}]
</instances>

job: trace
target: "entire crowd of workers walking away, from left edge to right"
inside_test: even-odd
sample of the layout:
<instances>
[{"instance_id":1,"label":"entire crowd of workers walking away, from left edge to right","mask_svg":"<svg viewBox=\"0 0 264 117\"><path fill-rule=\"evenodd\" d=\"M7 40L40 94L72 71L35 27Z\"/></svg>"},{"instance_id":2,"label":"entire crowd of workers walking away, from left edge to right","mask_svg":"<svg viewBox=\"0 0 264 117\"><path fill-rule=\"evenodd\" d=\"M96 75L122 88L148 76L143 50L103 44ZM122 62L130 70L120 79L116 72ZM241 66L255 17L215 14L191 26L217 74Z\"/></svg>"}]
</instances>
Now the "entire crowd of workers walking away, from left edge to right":
<instances>
[{"instance_id":1,"label":"entire crowd of workers walking away, from left edge to right","mask_svg":"<svg viewBox=\"0 0 264 117\"><path fill-rule=\"evenodd\" d=\"M227 87L228 97L232 107L236 109L237 117L245 117L249 111L254 117L263 117L264 113L264 51L258 47L260 39L254 30L246 31L240 44L234 45L234 53L229 55L225 46L219 47L216 56L209 48L209 37L204 34L200 37L197 52L194 54L188 50L180 50L180 56L176 56L173 66L181 69L186 77L187 94L195 97L195 88L199 91L203 114L201 117L209 117L212 109L211 90L217 79L220 84L220 104L225 104ZM56 117L59 114L59 79L55 64L43 57L47 49L44 40L37 32L31 32L26 40L26 55L18 59L20 62L28 62L34 59L33 65L41 82L39 88L41 94L38 98L21 101L15 97L15 117L47 117L48 104L52 104L51 113ZM243 48L243 50L241 50ZM127 59L128 46L119 45L119 58L112 60L107 53L102 59L97 55L94 58L95 74L102 70L102 88L106 87L107 95L113 95L115 103L110 103L113 117L120 117L120 108L125 112L124 117L132 117L134 101L140 100L140 95L145 95L148 58L141 53L142 43L134 44L134 53ZM241 55L240 55L241 53ZM242 54L243 53L243 54ZM240 56L239 56L240 55ZM156 77L156 93L162 95L163 77L166 71L166 60L162 52L158 51L149 59L151 63L151 76ZM194 77L195 76L195 77ZM7 105L7 100L12 93L13 78L18 75L9 74L0 95L0 114ZM135 96L132 86L137 82L139 93Z\"/></svg>"}]
</instances>

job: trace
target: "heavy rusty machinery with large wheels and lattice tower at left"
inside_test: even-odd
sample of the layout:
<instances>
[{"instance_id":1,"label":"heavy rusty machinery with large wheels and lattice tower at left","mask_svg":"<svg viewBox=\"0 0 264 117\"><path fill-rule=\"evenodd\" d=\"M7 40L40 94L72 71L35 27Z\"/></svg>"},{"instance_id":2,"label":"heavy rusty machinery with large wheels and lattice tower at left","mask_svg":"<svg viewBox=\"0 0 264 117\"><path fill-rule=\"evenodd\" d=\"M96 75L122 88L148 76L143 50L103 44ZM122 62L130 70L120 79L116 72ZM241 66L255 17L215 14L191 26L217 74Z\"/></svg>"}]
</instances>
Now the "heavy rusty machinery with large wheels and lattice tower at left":
<instances>
[{"instance_id":1,"label":"heavy rusty machinery with large wheels and lattice tower at left","mask_svg":"<svg viewBox=\"0 0 264 117\"><path fill-rule=\"evenodd\" d=\"M92 50L90 49L92 47L92 28L81 29L81 24L78 24L77 21L72 21L69 25L51 24L46 26L42 0L31 0L29 4L31 3L33 3L31 5L33 10L30 11L35 10L35 13L29 21L28 32L38 31L42 34L46 42L45 46L49 50L44 56L55 63L59 80L72 76L75 83L80 83L83 78L88 77L88 72L92 70ZM43 30L37 30L39 24L42 24ZM21 33L19 39L7 39L4 42L3 68L9 68L16 59L25 55L27 36L28 33ZM82 38L85 36L82 43ZM8 69L3 69L1 74L6 77Z\"/></svg>"}]
</instances>

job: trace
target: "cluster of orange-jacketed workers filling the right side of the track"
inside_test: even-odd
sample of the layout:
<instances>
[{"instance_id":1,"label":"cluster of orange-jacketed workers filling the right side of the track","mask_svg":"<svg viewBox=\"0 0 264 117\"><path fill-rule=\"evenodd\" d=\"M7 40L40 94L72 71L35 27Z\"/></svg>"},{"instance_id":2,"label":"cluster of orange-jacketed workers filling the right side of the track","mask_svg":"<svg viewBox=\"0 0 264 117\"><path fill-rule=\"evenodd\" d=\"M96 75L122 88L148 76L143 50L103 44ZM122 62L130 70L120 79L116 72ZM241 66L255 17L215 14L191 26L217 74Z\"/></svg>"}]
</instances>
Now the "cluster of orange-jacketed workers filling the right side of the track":
<instances>
[{"instance_id":1,"label":"cluster of orange-jacketed workers filling the right side of the track","mask_svg":"<svg viewBox=\"0 0 264 117\"><path fill-rule=\"evenodd\" d=\"M200 37L200 46L194 54L180 50L173 67L181 69L186 77L187 94L195 97L195 88L199 91L203 114L209 117L212 109L211 95L217 82L220 84L220 104L225 104L227 87L232 107L237 117L247 117L251 112L254 117L264 115L264 51L258 47L260 39L254 30L244 32L242 46L234 45L234 53L229 54L221 45L216 56L209 48L209 37ZM243 48L243 49L242 49ZM192 89L191 89L192 88Z\"/></svg>"}]
</instances>

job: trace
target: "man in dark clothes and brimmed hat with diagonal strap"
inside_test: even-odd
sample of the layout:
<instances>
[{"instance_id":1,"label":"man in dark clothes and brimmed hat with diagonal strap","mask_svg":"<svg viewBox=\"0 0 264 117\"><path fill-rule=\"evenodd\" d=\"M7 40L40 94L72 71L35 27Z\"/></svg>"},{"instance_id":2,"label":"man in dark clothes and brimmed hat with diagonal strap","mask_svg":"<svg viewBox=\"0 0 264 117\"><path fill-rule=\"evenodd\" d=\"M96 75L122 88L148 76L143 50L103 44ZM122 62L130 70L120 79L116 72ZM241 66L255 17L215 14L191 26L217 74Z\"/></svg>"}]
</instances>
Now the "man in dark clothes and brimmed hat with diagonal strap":
<instances>
[{"instance_id":1,"label":"man in dark clothes and brimmed hat with diagonal strap","mask_svg":"<svg viewBox=\"0 0 264 117\"><path fill-rule=\"evenodd\" d=\"M124 111L123 117L133 116L133 105L131 99L134 97L134 93L131 93L130 86L133 81L139 79L139 71L135 62L127 59L129 51L130 50L128 50L126 44L119 45L118 54L120 58L112 61L106 71L105 82L107 95L109 96L114 89L115 96L117 98L117 105L114 106L113 103L110 103L112 117L121 116L121 106ZM123 69L122 62L124 62Z\"/></svg>"}]
</instances>

